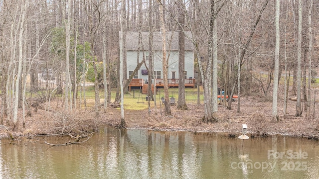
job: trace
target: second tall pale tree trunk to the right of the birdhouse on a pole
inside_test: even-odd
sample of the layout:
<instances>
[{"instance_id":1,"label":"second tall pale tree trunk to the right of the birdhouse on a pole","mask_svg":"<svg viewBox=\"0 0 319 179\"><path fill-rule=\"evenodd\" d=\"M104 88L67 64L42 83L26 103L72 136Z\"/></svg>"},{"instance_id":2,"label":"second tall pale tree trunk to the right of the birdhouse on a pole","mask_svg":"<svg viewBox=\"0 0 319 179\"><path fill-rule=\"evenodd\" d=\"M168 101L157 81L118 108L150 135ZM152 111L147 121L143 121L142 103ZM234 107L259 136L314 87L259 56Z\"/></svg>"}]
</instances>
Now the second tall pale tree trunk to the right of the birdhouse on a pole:
<instances>
[{"instance_id":1,"label":"second tall pale tree trunk to the right of the birdhouse on a pole","mask_svg":"<svg viewBox=\"0 0 319 179\"><path fill-rule=\"evenodd\" d=\"M301 53L302 53L302 6L303 1L299 0L299 20L298 20L298 44L297 44L297 104L296 104L296 116L302 115L302 109L301 109Z\"/></svg>"}]
</instances>

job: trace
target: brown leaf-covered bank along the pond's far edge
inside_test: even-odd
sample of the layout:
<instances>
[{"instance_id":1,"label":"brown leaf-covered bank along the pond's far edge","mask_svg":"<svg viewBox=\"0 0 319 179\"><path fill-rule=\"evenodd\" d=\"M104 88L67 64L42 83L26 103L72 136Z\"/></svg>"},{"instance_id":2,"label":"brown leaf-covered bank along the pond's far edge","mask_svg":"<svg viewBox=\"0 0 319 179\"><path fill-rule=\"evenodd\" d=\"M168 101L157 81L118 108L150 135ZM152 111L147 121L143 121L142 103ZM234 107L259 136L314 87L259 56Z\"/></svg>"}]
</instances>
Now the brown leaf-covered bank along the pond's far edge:
<instances>
[{"instance_id":1,"label":"brown leaf-covered bank along the pond's far edge","mask_svg":"<svg viewBox=\"0 0 319 179\"><path fill-rule=\"evenodd\" d=\"M60 101L61 103L61 101ZM127 128L140 128L150 130L179 130L196 132L211 132L229 136L241 133L242 124L247 124L249 136L267 136L270 134L282 134L318 139L319 122L318 116L306 117L303 111L302 117L295 117L296 101L289 100L287 115L283 115L283 101L278 101L278 113L280 122L272 122L272 101L267 97L242 97L240 102L240 113L237 112L237 101L232 103L232 109L218 106L219 120L214 123L203 123L203 104L187 104L188 110L177 110L171 106L170 116L165 116L158 104L154 108L145 110L125 110ZM147 105L147 104L143 104ZM85 132L98 130L102 125L118 125L120 123L120 109L110 107L105 112L101 106L99 116L95 116L93 104L88 105L87 110L76 109L73 112L65 111L57 102L50 103L50 110L45 104L40 104L37 111L31 108L31 116L25 117L25 127L22 127L22 113L19 111L17 130L12 131L6 118L4 125L13 136L36 136L61 133L72 133L80 135ZM304 106L304 104L303 104ZM318 110L318 109L316 109ZM313 113L313 112L312 112ZM0 128L0 137L8 137L7 131Z\"/></svg>"}]
</instances>

